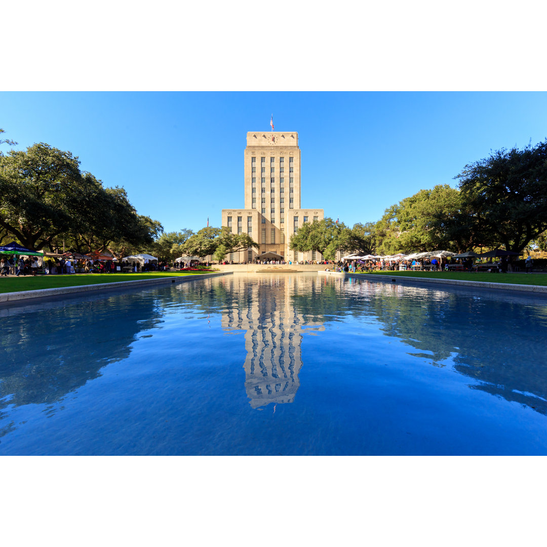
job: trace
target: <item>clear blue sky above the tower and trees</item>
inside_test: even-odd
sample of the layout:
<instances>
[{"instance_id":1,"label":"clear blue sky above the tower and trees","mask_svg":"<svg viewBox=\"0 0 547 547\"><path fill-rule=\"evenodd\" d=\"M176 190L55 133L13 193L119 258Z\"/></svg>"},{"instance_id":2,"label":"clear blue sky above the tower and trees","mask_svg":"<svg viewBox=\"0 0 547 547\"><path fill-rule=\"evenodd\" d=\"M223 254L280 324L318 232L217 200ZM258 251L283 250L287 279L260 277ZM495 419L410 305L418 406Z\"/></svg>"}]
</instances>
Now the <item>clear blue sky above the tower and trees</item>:
<instances>
[{"instance_id":1,"label":"clear blue sky above the tower and trees","mask_svg":"<svg viewBox=\"0 0 547 547\"><path fill-rule=\"evenodd\" d=\"M243 207L247 131L298 131L302 207L348 225L547 137L545 92L2 92L4 137L78 155L166 231ZM4 152L7 147L2 147Z\"/></svg>"}]
</instances>

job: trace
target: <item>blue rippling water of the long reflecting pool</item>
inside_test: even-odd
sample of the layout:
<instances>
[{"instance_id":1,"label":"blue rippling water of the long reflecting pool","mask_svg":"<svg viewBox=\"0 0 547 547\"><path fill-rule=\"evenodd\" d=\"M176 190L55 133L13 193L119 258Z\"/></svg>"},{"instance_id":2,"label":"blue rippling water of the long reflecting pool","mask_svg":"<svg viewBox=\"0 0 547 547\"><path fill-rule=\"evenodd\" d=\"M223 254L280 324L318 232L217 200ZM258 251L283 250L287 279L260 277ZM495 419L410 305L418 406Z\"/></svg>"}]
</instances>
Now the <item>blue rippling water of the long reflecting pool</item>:
<instances>
[{"instance_id":1,"label":"blue rippling water of the long reflecting pool","mask_svg":"<svg viewBox=\"0 0 547 547\"><path fill-rule=\"evenodd\" d=\"M547 454L545 298L230 275L0 321L0 455Z\"/></svg>"}]
</instances>

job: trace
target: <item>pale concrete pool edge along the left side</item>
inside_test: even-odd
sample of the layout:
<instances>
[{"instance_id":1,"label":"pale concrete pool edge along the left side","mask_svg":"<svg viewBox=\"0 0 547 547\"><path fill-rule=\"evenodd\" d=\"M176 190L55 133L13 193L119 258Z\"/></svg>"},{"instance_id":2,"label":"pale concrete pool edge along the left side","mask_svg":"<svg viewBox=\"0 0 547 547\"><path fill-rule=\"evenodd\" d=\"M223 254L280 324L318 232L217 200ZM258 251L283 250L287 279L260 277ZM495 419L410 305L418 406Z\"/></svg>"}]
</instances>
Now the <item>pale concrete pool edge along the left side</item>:
<instances>
[{"instance_id":1,"label":"pale concrete pool edge along the left side","mask_svg":"<svg viewBox=\"0 0 547 547\"><path fill-rule=\"evenodd\" d=\"M96 283L94 285L78 285L76 287L56 287L53 289L37 289L37 290L19 290L14 293L1 293L0 306L9 304L10 302L20 302L22 300L34 300L38 298L48 298L48 296L59 296L62 294L87 293L98 290L119 289L127 287L142 287L146 285L155 285L159 283L171 282L187 282L195 281L196 279L218 277L230 275L231 272L213 272L212 274L199 274L191 276L169 276L155 277L153 279L142 279L135 281L115 281L113 283Z\"/></svg>"}]
</instances>

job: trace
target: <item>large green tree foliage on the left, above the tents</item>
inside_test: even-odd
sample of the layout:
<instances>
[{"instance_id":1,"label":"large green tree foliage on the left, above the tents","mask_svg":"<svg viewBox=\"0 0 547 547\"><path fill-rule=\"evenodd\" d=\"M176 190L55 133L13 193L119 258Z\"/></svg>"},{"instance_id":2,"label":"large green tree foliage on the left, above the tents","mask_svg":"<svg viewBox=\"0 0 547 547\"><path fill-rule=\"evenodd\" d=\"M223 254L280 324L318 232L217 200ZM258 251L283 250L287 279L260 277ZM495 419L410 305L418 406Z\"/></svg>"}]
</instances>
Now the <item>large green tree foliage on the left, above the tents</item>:
<instances>
[{"instance_id":1,"label":"large green tree foliage on the left, above the tents","mask_svg":"<svg viewBox=\"0 0 547 547\"><path fill-rule=\"evenodd\" d=\"M0 155L0 229L33 250L152 245L161 224L138 215L123 188L103 188L79 165L71 152L45 143Z\"/></svg>"}]
</instances>

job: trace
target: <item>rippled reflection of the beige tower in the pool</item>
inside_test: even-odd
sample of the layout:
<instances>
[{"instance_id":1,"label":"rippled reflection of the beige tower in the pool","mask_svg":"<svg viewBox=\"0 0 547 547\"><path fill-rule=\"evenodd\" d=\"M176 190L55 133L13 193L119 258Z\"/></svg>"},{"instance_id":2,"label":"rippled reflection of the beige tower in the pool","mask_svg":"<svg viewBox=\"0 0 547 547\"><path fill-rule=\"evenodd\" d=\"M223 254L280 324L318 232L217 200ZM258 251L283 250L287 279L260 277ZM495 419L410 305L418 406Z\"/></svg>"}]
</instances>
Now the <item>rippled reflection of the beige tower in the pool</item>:
<instances>
[{"instance_id":1,"label":"rippled reflection of the beige tower in the pool","mask_svg":"<svg viewBox=\"0 0 547 547\"><path fill-rule=\"evenodd\" d=\"M310 326L292 302L299 283L310 278L293 275L264 275L249 279L234 276L230 284L240 298L238 306L226 310L224 330L245 330L247 357L245 389L252 408L270 403L292 403L300 386L302 335L324 330L322 324Z\"/></svg>"}]
</instances>

